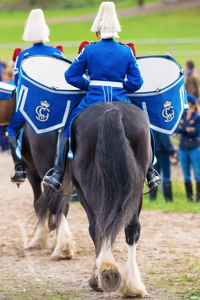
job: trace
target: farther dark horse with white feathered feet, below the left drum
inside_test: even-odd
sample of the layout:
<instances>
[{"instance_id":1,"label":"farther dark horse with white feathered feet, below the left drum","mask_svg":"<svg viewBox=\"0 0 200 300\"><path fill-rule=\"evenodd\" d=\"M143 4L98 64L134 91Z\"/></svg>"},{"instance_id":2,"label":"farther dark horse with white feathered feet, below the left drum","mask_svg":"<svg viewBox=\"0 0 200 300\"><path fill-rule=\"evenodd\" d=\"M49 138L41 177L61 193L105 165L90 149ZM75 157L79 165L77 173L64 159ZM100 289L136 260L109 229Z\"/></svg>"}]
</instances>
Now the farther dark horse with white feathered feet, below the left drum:
<instances>
[{"instance_id":1,"label":"farther dark horse with white feathered feet, below the left drum","mask_svg":"<svg viewBox=\"0 0 200 300\"><path fill-rule=\"evenodd\" d=\"M74 254L73 241L66 220L70 198L53 193L45 185L43 191L41 190L43 176L55 160L57 132L37 135L27 123L24 123L23 127L21 154L33 189L34 209L38 220L34 237L28 248L46 247L49 232L56 228L56 240L51 258L71 258ZM69 184L62 192L71 194L70 179L65 177L65 180L69 180Z\"/></svg>"}]
</instances>

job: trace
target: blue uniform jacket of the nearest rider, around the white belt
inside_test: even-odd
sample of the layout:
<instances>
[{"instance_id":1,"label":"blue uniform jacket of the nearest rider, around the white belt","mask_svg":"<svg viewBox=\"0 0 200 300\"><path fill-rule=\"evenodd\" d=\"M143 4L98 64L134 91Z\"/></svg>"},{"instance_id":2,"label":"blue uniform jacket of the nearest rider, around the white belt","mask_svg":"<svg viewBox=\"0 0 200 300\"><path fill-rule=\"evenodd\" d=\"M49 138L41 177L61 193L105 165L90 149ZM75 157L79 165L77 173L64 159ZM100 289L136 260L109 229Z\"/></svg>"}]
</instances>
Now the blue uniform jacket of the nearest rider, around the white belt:
<instances>
[{"instance_id":1,"label":"blue uniform jacket of the nearest rider, around the white belt","mask_svg":"<svg viewBox=\"0 0 200 300\"><path fill-rule=\"evenodd\" d=\"M90 80L121 82L123 88L89 85L90 81L82 77L86 70ZM125 75L127 80L124 80ZM132 49L112 38L86 45L66 70L65 79L71 85L87 91L79 103L81 108L103 101L130 103L126 92L138 90L143 83Z\"/></svg>"}]
</instances>

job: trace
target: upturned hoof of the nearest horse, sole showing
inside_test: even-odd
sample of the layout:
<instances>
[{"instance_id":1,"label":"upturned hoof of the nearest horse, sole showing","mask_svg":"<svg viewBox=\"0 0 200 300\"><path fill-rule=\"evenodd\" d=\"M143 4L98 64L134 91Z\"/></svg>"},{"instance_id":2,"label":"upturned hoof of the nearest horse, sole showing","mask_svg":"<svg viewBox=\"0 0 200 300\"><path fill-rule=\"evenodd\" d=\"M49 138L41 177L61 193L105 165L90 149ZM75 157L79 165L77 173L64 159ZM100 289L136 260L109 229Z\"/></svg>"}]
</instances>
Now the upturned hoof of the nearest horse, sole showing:
<instances>
[{"instance_id":1,"label":"upturned hoof of the nearest horse, sole showing","mask_svg":"<svg viewBox=\"0 0 200 300\"><path fill-rule=\"evenodd\" d=\"M115 291L121 284L121 275L118 270L103 271L101 285L107 292Z\"/></svg>"}]
</instances>

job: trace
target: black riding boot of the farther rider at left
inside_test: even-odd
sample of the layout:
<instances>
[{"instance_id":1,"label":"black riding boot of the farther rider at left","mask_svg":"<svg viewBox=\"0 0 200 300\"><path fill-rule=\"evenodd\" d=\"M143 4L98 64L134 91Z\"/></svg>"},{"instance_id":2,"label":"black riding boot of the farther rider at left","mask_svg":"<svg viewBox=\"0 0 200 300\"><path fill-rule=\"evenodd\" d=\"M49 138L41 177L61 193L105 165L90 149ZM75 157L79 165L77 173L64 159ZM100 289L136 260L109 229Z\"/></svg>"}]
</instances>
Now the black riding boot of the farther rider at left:
<instances>
[{"instance_id":1,"label":"black riding boot of the farther rider at left","mask_svg":"<svg viewBox=\"0 0 200 300\"><path fill-rule=\"evenodd\" d=\"M26 172L22 159L16 156L16 140L14 135L7 135L7 141L14 161L15 173L11 176L11 182L21 183L26 178Z\"/></svg>"}]
</instances>

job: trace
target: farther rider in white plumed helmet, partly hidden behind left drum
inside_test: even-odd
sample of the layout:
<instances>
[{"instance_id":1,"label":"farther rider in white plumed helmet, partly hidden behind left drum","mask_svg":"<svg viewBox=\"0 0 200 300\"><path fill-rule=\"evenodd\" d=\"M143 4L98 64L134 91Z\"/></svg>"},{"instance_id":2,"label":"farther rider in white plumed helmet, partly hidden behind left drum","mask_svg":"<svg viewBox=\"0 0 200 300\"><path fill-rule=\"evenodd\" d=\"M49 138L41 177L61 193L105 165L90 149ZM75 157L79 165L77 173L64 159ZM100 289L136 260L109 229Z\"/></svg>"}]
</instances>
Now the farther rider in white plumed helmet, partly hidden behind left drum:
<instances>
[{"instance_id":1,"label":"farther rider in white plumed helmet, partly hidden behind left drum","mask_svg":"<svg viewBox=\"0 0 200 300\"><path fill-rule=\"evenodd\" d=\"M22 39L25 41L31 41L32 46L21 50L16 48L13 53L14 65L14 83L17 85L19 77L20 63L25 54L29 55L53 55L55 52L62 55L60 48L62 46L47 46L44 42L49 41L49 28L45 23L44 14L41 9L32 9L29 13L28 19L26 21L24 33ZM21 50L21 51L20 51ZM62 55L63 56L63 55ZM12 182L20 183L24 181L25 169L22 160L18 158L15 153L15 135L20 127L24 123L23 116L14 111L9 125L6 127L6 136L11 150L11 155L14 161L15 173L11 177Z\"/></svg>"}]
</instances>

